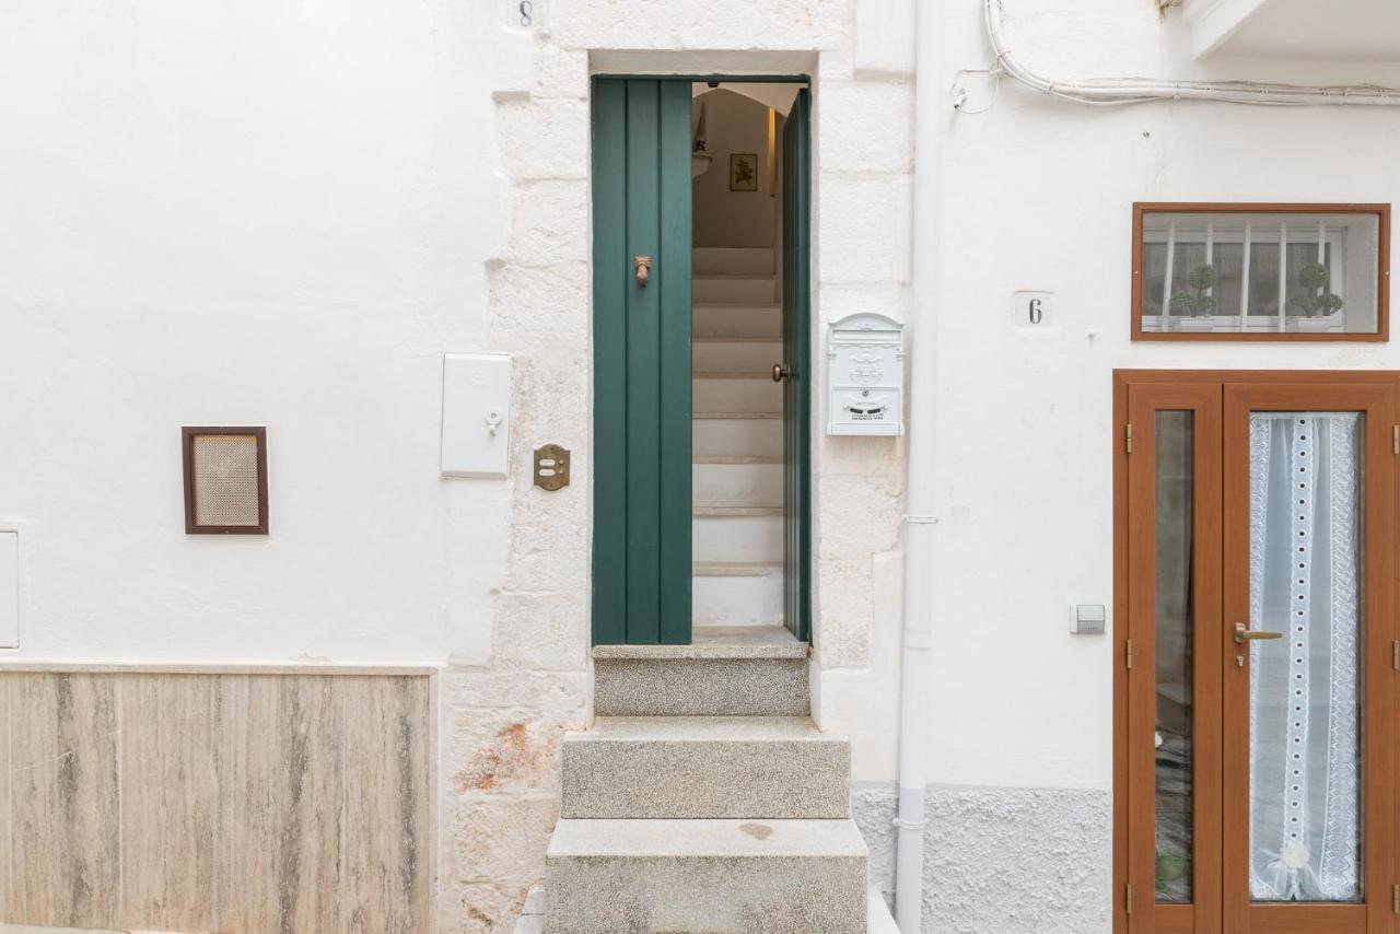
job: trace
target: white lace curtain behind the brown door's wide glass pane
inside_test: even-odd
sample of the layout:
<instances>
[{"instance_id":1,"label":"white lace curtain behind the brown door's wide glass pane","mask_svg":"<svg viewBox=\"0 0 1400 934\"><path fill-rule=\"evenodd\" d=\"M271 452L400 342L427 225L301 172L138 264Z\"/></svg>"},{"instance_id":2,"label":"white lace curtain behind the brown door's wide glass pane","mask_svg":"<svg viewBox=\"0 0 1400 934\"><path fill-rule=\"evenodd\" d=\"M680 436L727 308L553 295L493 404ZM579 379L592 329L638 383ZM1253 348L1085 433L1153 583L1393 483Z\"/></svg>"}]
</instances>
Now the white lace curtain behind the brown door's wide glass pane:
<instances>
[{"instance_id":1,"label":"white lace curtain behind the brown door's wide glass pane","mask_svg":"<svg viewBox=\"0 0 1400 934\"><path fill-rule=\"evenodd\" d=\"M1351 902L1359 826L1357 413L1250 416L1250 895Z\"/></svg>"}]
</instances>

